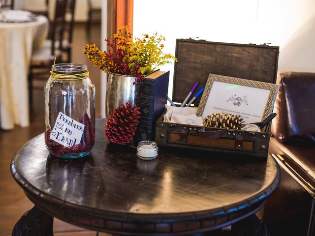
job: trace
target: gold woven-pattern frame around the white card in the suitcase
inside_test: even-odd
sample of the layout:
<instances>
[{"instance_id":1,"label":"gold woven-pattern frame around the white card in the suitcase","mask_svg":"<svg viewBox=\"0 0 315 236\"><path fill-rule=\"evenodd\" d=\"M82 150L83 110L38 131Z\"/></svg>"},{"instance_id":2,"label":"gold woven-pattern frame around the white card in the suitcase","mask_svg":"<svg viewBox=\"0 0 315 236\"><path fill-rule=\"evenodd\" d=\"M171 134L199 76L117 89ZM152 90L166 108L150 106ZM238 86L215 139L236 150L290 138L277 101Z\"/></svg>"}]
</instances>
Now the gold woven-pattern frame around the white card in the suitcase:
<instances>
[{"instance_id":1,"label":"gold woven-pattern frame around the white card in the suitcase","mask_svg":"<svg viewBox=\"0 0 315 236\"><path fill-rule=\"evenodd\" d=\"M206 103L208 101L208 97L210 94L210 90L212 88L213 82L218 81L218 82L223 82L223 83L228 83L228 84L234 84L234 85L241 85L241 86L247 86L247 87L252 87L252 88L257 88L257 89L267 89L270 90L269 97L267 100L267 104L265 106L265 110L262 116L261 120L264 120L269 116L271 113L271 110L273 108L276 95L279 89L279 85L276 84L270 84L270 83L265 83L265 82L259 82L259 81L253 81L253 80L246 80L246 79L240 79L240 78L235 78L235 77L229 77L229 76L223 76L223 75L215 75L215 74L209 74L209 78L205 87L205 90L202 94L199 107L197 110L196 115L198 117L202 116L202 113L204 111L204 108L206 106Z\"/></svg>"}]
</instances>

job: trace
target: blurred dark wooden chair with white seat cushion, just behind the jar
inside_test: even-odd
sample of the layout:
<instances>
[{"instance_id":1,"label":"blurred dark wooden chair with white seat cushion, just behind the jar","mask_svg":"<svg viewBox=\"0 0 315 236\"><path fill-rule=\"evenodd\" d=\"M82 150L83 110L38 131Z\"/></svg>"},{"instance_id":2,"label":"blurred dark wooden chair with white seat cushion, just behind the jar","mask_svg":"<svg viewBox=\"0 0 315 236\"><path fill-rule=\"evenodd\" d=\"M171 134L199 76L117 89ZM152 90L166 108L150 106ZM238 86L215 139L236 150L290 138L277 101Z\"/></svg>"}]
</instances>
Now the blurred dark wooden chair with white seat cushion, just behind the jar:
<instances>
[{"instance_id":1,"label":"blurred dark wooden chair with white seat cushion, just behind the jar","mask_svg":"<svg viewBox=\"0 0 315 236\"><path fill-rule=\"evenodd\" d=\"M62 43L67 0L56 0L54 21L51 23L51 39L45 40L42 48L33 52L29 73L29 94L32 103L32 80L47 80L47 73L54 59L62 62Z\"/></svg>"}]
</instances>

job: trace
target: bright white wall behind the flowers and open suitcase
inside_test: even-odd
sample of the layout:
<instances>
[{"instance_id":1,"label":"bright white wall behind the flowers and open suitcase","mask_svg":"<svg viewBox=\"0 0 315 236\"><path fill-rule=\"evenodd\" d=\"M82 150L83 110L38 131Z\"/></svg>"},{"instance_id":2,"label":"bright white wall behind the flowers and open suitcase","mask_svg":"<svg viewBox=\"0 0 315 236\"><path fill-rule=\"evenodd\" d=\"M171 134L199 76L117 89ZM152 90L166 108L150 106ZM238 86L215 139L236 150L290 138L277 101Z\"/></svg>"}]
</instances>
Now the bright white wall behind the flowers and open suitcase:
<instances>
[{"instance_id":1,"label":"bright white wall behind the flowers and open suitcase","mask_svg":"<svg viewBox=\"0 0 315 236\"><path fill-rule=\"evenodd\" d=\"M134 0L133 24L134 35L164 35L165 52L176 38L270 42L280 46L278 71L315 72L315 0Z\"/></svg>"}]
</instances>

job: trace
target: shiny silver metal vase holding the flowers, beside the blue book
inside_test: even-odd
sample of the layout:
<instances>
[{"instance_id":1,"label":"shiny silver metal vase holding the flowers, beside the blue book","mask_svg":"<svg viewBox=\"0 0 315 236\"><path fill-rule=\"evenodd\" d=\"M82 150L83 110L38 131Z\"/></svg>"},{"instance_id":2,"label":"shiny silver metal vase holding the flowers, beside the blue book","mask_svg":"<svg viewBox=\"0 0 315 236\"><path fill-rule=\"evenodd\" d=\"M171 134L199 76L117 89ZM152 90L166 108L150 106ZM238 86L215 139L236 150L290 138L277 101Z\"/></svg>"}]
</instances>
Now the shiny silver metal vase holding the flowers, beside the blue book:
<instances>
[{"instance_id":1,"label":"shiny silver metal vase holding the flowers, beside the blue book","mask_svg":"<svg viewBox=\"0 0 315 236\"><path fill-rule=\"evenodd\" d=\"M109 73L106 88L105 115L113 114L116 107L126 102L140 106L141 86L136 77Z\"/></svg>"}]
</instances>

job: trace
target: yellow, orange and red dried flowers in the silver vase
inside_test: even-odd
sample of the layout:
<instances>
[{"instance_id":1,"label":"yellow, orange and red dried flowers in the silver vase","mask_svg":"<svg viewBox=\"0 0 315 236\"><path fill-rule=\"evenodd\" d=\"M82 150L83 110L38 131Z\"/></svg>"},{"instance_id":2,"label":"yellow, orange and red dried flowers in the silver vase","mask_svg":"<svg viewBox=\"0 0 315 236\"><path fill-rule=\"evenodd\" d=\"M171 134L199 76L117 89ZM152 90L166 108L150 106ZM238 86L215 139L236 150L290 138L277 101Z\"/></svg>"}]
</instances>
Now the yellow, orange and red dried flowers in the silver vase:
<instances>
[{"instance_id":1,"label":"yellow, orange and red dried flowers in the silver vase","mask_svg":"<svg viewBox=\"0 0 315 236\"><path fill-rule=\"evenodd\" d=\"M95 44L84 46L83 53L90 62L102 71L121 75L131 75L141 80L144 75L154 71L159 66L171 63L177 59L171 54L164 54L163 41L165 37L154 33L152 36L142 34L132 41L132 34L124 26L114 34L114 40L107 38L108 52L100 51ZM115 42L114 42L115 41ZM116 46L116 49L115 49Z\"/></svg>"}]
</instances>

